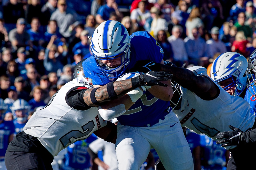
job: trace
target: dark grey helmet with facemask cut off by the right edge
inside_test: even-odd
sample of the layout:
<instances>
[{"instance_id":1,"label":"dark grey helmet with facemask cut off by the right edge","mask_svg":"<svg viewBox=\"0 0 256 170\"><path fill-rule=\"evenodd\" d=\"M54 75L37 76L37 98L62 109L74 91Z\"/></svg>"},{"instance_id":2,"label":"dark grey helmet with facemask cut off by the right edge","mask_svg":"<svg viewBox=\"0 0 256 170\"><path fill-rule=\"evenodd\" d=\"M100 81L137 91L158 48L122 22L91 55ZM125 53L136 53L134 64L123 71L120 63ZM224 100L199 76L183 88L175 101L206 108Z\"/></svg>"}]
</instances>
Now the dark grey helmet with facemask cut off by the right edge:
<instances>
[{"instance_id":1,"label":"dark grey helmet with facemask cut off by the right edge","mask_svg":"<svg viewBox=\"0 0 256 170\"><path fill-rule=\"evenodd\" d=\"M248 60L248 70L246 70L245 72L249 80L249 83L247 84L247 88L254 97L256 97L255 73L256 73L256 50L254 50L250 55L250 58ZM252 86L252 88L250 88L250 86Z\"/></svg>"}]
</instances>

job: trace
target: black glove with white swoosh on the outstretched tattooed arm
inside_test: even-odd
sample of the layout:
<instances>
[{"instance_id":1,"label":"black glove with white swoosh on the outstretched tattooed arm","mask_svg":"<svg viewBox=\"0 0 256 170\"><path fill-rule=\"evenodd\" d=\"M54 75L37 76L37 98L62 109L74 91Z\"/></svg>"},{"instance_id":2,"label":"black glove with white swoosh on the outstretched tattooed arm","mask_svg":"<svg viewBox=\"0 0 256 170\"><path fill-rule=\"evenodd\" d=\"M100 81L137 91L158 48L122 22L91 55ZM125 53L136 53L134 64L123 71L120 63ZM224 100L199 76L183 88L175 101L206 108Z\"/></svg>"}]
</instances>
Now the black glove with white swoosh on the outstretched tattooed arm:
<instances>
[{"instance_id":1,"label":"black glove with white swoosh on the outstretched tattooed arm","mask_svg":"<svg viewBox=\"0 0 256 170\"><path fill-rule=\"evenodd\" d=\"M167 84L163 84L159 81L162 80L171 80L172 74L169 72L157 72L157 71L149 71L145 74L139 75L137 77L132 78L132 86L164 86L167 87Z\"/></svg>"}]
</instances>

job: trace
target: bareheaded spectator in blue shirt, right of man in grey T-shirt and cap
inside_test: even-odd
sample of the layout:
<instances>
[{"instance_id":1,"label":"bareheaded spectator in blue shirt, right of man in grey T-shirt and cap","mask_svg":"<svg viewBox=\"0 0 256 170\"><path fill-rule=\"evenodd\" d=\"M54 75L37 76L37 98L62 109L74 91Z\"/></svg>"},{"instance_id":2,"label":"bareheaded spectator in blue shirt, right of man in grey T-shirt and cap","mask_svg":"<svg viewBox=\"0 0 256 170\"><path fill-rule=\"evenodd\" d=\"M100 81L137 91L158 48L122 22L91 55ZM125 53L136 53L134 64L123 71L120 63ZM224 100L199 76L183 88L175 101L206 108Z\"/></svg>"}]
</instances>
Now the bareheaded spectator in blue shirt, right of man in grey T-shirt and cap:
<instances>
[{"instance_id":1,"label":"bareheaded spectator in blue shirt, right of man in grey T-shirt and cap","mask_svg":"<svg viewBox=\"0 0 256 170\"><path fill-rule=\"evenodd\" d=\"M39 19L37 17L32 18L30 26L31 29L29 29L27 33L33 43L33 47L39 48L44 43L44 34L39 31L39 27L41 26Z\"/></svg>"}]
</instances>

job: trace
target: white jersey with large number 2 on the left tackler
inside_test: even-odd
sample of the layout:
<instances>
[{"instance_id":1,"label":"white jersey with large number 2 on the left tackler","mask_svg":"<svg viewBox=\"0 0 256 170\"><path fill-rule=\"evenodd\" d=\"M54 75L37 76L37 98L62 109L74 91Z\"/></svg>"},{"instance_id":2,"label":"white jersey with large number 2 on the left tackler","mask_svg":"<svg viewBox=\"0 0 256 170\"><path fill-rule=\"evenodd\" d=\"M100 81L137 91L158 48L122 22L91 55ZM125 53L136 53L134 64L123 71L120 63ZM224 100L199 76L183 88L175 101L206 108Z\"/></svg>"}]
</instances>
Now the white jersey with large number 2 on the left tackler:
<instances>
[{"instance_id":1,"label":"white jersey with large number 2 on the left tackler","mask_svg":"<svg viewBox=\"0 0 256 170\"><path fill-rule=\"evenodd\" d=\"M84 76L68 82L52 97L49 104L36 111L24 127L24 132L37 137L56 156L78 140L88 138L95 130L106 126L97 107L76 110L68 105L67 94L77 88L93 88Z\"/></svg>"}]
</instances>

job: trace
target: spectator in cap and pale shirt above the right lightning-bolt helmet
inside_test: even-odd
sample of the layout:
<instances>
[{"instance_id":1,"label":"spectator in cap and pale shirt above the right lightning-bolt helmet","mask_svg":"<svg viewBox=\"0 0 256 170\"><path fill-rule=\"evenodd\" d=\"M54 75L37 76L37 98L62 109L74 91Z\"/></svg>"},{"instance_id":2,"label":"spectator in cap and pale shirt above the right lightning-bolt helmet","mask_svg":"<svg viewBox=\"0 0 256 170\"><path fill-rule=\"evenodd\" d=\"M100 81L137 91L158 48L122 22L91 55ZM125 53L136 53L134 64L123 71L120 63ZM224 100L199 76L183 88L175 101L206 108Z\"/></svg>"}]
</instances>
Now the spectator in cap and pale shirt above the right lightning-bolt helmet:
<instances>
[{"instance_id":1,"label":"spectator in cap and pale shirt above the right lightning-bolt helmet","mask_svg":"<svg viewBox=\"0 0 256 170\"><path fill-rule=\"evenodd\" d=\"M213 58L216 53L225 53L227 52L227 48L225 44L219 40L219 28L213 27L211 29L211 39L206 41L207 46L207 56L209 58Z\"/></svg>"}]
</instances>

